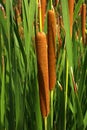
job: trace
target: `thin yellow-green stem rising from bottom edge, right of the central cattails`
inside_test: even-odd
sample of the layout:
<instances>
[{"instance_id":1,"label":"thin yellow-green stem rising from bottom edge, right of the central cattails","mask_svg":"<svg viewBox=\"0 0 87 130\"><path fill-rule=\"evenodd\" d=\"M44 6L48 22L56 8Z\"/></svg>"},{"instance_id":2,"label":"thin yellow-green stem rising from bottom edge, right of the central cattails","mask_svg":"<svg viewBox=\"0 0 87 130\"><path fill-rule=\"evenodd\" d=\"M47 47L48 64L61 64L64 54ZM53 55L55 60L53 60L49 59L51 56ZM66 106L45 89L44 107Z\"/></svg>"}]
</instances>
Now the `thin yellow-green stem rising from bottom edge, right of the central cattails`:
<instances>
[{"instance_id":1,"label":"thin yellow-green stem rising from bottom edge, right of the central cattails","mask_svg":"<svg viewBox=\"0 0 87 130\"><path fill-rule=\"evenodd\" d=\"M68 97L68 59L66 58L66 87L65 87L64 130L66 130L67 97Z\"/></svg>"}]
</instances>

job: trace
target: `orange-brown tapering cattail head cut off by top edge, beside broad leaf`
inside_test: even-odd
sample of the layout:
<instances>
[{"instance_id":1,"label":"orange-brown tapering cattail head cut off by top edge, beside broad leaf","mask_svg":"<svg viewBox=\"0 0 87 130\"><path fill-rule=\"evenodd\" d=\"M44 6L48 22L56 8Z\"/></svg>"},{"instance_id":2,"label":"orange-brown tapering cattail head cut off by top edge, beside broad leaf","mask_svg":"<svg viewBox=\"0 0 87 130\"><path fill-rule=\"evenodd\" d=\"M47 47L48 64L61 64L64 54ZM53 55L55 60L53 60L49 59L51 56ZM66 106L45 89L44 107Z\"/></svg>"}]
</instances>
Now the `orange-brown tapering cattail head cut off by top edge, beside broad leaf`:
<instances>
[{"instance_id":1,"label":"orange-brown tapering cattail head cut off by top edge, beside broad leaf","mask_svg":"<svg viewBox=\"0 0 87 130\"><path fill-rule=\"evenodd\" d=\"M68 0L68 6L69 6L69 19L70 19L70 34L72 37L74 0Z\"/></svg>"}]
</instances>

